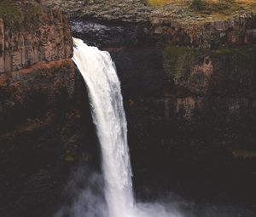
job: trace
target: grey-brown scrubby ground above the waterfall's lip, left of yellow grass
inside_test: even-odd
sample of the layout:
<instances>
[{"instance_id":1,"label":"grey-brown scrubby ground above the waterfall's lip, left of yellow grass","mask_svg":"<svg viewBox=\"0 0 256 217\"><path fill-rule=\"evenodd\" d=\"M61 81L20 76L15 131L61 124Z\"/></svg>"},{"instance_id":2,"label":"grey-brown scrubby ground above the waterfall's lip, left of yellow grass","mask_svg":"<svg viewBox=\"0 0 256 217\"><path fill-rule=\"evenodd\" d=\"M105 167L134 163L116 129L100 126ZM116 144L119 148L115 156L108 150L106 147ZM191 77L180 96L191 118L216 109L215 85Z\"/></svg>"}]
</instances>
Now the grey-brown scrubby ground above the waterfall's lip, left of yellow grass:
<instances>
[{"instance_id":1,"label":"grey-brown scrubby ground above the waterfall's lip, left of yellow grass","mask_svg":"<svg viewBox=\"0 0 256 217\"><path fill-rule=\"evenodd\" d=\"M90 17L97 20L140 22L152 12L147 0L42 0L42 3L61 9L70 17Z\"/></svg>"}]
</instances>

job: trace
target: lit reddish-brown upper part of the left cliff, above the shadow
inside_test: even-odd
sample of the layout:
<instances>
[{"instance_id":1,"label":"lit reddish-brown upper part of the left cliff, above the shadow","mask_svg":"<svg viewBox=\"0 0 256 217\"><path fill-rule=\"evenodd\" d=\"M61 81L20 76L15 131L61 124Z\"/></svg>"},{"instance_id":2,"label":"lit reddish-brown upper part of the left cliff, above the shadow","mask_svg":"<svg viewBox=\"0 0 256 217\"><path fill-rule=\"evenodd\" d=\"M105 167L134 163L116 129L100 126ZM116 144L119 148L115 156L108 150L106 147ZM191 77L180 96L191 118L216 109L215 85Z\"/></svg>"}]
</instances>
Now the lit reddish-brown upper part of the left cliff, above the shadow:
<instances>
[{"instance_id":1,"label":"lit reddish-brown upper part of the left cliff, above the shadow","mask_svg":"<svg viewBox=\"0 0 256 217\"><path fill-rule=\"evenodd\" d=\"M0 39L1 128L21 117L26 120L21 113L15 120L12 112L27 107L36 94L45 94L47 105L60 89L72 96L75 68L66 15L35 2L2 1Z\"/></svg>"}]
</instances>

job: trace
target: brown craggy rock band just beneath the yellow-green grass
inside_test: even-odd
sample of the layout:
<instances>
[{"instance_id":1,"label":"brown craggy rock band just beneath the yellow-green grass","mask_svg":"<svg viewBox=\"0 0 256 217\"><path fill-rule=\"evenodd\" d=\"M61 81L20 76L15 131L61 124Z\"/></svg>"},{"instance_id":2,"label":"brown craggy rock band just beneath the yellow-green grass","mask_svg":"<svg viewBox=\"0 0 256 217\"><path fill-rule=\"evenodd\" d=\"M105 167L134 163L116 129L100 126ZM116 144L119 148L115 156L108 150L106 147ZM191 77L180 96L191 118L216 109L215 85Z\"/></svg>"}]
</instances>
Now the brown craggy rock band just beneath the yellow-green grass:
<instances>
[{"instance_id":1,"label":"brown craggy rock band just beneath the yellow-green grass","mask_svg":"<svg viewBox=\"0 0 256 217\"><path fill-rule=\"evenodd\" d=\"M165 17L151 17L153 36L162 43L200 48L253 46L256 42L256 14L241 13L230 20L198 24L173 22Z\"/></svg>"}]
</instances>

